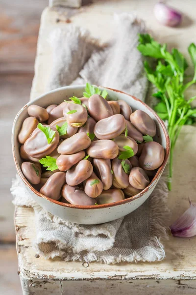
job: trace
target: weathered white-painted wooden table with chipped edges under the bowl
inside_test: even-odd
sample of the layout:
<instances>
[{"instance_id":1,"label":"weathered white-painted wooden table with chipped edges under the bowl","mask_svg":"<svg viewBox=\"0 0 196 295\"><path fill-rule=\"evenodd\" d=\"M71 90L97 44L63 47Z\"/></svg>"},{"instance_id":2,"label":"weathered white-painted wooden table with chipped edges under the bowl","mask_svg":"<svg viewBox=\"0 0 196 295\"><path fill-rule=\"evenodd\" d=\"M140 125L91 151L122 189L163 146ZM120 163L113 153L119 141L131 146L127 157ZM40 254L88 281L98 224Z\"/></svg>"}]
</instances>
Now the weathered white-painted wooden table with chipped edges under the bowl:
<instances>
[{"instance_id":1,"label":"weathered white-painted wooden table with chipped edges under the bowl","mask_svg":"<svg viewBox=\"0 0 196 295\"><path fill-rule=\"evenodd\" d=\"M74 11L59 8L53 10L46 8L44 10L31 98L45 92L51 68L49 33L54 28L66 27L68 25L67 19L75 25L86 27L93 36L105 42L114 33L111 26L113 12L132 12L135 9L138 15L146 21L147 27L153 30L153 33L161 42L169 43L170 46L174 45L185 53L189 43L196 41L196 2L194 0L171 1L173 5L179 7L193 20L190 24L185 19L185 22L178 29L162 27L156 22L152 14L155 0L94 2L90 6ZM105 29L106 26L107 29ZM187 136L187 134L195 134L194 136L196 136L195 127L190 128L184 128L181 136ZM187 145L189 144L191 143ZM174 189L168 199L168 206L172 211L172 220L169 222L175 220L189 206L186 194L186 185L188 184L179 181L179 177L183 176L184 173L182 167L183 170L189 169L190 175L192 175L189 181L195 183L196 157L194 148L188 159L186 154L187 149L184 146L176 148L174 153ZM194 190L189 197L196 201ZM180 239L171 236L169 240L164 241L166 259L162 262L122 263L114 266L92 263L88 266L88 264L63 262L58 259L44 260L36 254L32 246L36 233L34 212L31 208L16 208L15 228L19 274L24 295L196 294L196 253L194 251L196 238Z\"/></svg>"}]
</instances>

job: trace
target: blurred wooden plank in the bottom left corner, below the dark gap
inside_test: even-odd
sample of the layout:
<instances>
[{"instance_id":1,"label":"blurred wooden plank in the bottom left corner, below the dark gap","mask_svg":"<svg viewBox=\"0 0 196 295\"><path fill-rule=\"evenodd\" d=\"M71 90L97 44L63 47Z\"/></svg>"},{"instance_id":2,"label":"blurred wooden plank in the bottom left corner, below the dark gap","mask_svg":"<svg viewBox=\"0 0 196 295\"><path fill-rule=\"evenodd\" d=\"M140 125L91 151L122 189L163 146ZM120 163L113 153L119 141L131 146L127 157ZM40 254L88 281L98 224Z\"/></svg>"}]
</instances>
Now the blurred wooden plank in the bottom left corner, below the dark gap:
<instances>
[{"instance_id":1,"label":"blurred wooden plank in the bottom left corner, below the dark gap","mask_svg":"<svg viewBox=\"0 0 196 295\"><path fill-rule=\"evenodd\" d=\"M21 295L16 247L0 245L0 294Z\"/></svg>"}]
</instances>

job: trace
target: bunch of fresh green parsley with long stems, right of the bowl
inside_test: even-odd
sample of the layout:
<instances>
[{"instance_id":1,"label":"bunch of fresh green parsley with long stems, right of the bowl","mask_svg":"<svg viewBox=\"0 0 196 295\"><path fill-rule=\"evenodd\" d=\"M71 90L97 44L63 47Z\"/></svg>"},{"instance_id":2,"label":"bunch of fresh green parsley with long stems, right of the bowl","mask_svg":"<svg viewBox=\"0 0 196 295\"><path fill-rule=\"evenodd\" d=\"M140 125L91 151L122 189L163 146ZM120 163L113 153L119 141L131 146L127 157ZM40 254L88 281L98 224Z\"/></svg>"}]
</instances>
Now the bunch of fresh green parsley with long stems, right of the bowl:
<instances>
[{"instance_id":1,"label":"bunch of fresh green parsley with long stems, right of the bowl","mask_svg":"<svg viewBox=\"0 0 196 295\"><path fill-rule=\"evenodd\" d=\"M166 44L159 44L148 34L139 34L138 50L142 55L153 59L153 66L147 60L144 62L147 79L158 90L153 96L159 99L154 107L160 118L168 121L168 132L171 140L169 183L171 190L172 180L172 158L173 150L180 130L184 124L196 122L196 108L191 103L196 96L185 99L184 92L192 84L196 83L196 45L190 44L188 52L194 65L194 75L191 81L187 82L185 74L188 68L187 60L175 48L170 53Z\"/></svg>"}]
</instances>

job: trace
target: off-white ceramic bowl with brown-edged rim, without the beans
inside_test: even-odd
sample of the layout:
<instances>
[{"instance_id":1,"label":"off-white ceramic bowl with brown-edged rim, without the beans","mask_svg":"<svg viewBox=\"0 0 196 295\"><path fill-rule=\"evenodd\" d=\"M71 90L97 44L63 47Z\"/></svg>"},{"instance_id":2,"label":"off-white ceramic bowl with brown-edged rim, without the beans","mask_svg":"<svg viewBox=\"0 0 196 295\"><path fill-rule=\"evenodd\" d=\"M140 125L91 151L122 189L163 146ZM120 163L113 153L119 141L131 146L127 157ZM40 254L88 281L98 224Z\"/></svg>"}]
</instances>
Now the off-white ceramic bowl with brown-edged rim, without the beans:
<instances>
[{"instance_id":1,"label":"off-white ceramic bowl with brown-edged rim, without the beans","mask_svg":"<svg viewBox=\"0 0 196 295\"><path fill-rule=\"evenodd\" d=\"M155 177L144 190L142 190L139 194L133 197L127 198L123 201L119 201L116 203L99 206L95 205L90 207L76 206L61 203L42 195L31 186L31 184L27 181L27 179L21 171L22 160L19 153L20 144L18 142L18 133L21 129L24 119L28 117L27 108L32 104L36 104L46 108L50 104L60 104L61 102L63 102L64 99L72 97L73 95L77 97L82 97L84 88L85 86L62 87L59 89L52 90L36 98L35 100L27 103L19 111L13 123L12 150L18 174L24 181L29 194L40 206L47 209L50 213L70 222L79 224L99 224L123 217L129 214L130 212L134 211L138 207L140 207L147 200L147 198L154 190L168 161L170 152L170 139L164 122L144 102L122 91L106 88L110 100L123 99L131 106L133 111L137 109L145 111L156 122L156 141L159 142L165 149L165 159L163 164L160 166ZM105 89L103 87L98 88L101 90Z\"/></svg>"}]
</instances>

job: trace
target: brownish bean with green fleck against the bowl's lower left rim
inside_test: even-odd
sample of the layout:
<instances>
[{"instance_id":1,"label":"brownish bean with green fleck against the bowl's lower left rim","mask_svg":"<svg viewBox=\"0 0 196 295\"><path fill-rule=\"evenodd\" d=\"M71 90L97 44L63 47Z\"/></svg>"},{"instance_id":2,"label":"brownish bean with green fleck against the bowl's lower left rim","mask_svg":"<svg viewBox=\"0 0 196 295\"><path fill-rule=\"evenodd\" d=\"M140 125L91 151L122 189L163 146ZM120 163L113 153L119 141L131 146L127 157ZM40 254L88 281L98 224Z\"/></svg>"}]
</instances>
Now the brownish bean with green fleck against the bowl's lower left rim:
<instances>
[{"instance_id":1,"label":"brownish bean with green fleck against the bowl's lower left rim","mask_svg":"<svg viewBox=\"0 0 196 295\"><path fill-rule=\"evenodd\" d=\"M41 178L41 166L40 163L23 162L21 170L26 179L32 184L38 184Z\"/></svg>"}]
</instances>

